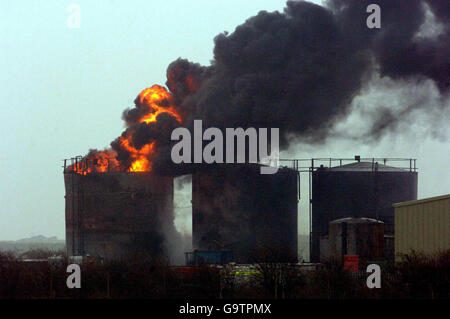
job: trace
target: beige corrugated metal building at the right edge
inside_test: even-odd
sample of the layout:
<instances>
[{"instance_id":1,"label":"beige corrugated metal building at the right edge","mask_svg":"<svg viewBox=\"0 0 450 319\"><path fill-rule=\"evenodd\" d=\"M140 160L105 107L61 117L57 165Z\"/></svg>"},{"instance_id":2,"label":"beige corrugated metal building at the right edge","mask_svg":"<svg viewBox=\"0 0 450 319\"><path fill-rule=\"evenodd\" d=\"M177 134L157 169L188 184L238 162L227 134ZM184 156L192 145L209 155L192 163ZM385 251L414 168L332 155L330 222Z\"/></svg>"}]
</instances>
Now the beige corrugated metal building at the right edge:
<instances>
[{"instance_id":1,"label":"beige corrugated metal building at the right edge","mask_svg":"<svg viewBox=\"0 0 450 319\"><path fill-rule=\"evenodd\" d=\"M394 204L395 254L450 249L450 194Z\"/></svg>"}]
</instances>

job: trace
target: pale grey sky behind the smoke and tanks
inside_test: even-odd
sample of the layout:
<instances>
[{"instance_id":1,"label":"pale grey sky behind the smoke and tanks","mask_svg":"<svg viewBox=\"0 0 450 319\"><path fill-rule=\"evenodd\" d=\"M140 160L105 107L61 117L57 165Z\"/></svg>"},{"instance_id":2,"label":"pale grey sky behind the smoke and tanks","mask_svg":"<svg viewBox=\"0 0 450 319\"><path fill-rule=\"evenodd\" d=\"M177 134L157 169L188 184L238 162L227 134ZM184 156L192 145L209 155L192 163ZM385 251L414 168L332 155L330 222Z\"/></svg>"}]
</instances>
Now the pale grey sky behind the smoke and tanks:
<instances>
[{"instance_id":1,"label":"pale grey sky behind the smoke and tanks","mask_svg":"<svg viewBox=\"0 0 450 319\"><path fill-rule=\"evenodd\" d=\"M0 240L64 238L61 160L109 146L123 130L122 111L142 89L165 83L170 62L208 65L214 36L285 1L76 1L80 29L67 28L70 3L0 3ZM449 143L425 136L299 145L289 155L417 157L419 197L450 193ZM306 217L301 210L301 232Z\"/></svg>"}]
</instances>

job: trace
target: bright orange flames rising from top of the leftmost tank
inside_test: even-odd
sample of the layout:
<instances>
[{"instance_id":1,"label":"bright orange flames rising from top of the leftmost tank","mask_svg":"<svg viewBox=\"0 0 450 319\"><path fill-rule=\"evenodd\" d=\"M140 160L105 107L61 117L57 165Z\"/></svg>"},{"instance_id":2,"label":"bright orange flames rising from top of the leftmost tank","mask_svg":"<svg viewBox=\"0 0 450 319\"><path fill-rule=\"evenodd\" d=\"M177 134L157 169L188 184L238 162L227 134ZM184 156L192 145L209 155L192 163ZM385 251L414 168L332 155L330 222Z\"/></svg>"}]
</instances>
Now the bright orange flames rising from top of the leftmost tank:
<instances>
[{"instance_id":1,"label":"bright orange flames rising from top of the leftmost tank","mask_svg":"<svg viewBox=\"0 0 450 319\"><path fill-rule=\"evenodd\" d=\"M139 119L139 123L156 122L157 116L161 113L168 113L181 123L181 116L174 107L172 94L162 86L155 84L142 90L137 97L136 103L136 107L146 110L145 114ZM90 152L85 158L80 159L80 162L71 165L69 170L81 175L87 175L92 172L104 173L114 171L150 172L152 169L151 159L155 152L156 142L150 142L137 149L133 146L132 132L133 129L130 128L125 136L122 135L118 138L120 147L128 152L129 157L132 159L128 168L120 165L117 160L117 153L114 150L108 149L102 152Z\"/></svg>"}]
</instances>

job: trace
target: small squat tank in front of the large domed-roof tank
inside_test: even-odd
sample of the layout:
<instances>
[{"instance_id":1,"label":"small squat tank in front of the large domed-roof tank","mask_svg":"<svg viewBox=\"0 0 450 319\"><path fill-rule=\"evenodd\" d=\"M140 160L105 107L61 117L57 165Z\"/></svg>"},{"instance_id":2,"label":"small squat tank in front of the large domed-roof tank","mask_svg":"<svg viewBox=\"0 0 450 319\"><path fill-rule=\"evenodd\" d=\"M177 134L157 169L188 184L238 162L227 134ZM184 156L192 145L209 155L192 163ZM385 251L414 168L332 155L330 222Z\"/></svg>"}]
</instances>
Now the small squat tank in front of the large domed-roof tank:
<instances>
[{"instance_id":1,"label":"small squat tank in front of the large domed-roof tank","mask_svg":"<svg viewBox=\"0 0 450 319\"><path fill-rule=\"evenodd\" d=\"M347 217L330 222L330 257L358 255L362 261L383 259L384 223L371 218Z\"/></svg>"}]
</instances>

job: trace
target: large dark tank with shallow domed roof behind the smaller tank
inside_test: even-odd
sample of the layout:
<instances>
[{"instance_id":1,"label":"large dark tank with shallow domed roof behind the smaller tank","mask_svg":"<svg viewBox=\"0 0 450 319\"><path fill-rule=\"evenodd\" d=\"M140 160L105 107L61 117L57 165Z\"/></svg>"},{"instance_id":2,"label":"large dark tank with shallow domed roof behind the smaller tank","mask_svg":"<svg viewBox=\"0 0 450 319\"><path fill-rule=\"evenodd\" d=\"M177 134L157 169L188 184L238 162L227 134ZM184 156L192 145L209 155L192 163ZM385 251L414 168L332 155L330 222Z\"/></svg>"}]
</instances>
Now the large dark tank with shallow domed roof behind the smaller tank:
<instances>
[{"instance_id":1,"label":"large dark tank with shallow domed roof behind the smaller tank","mask_svg":"<svg viewBox=\"0 0 450 319\"><path fill-rule=\"evenodd\" d=\"M356 162L312 173L311 261L319 262L320 237L328 224L345 217L384 222L394 235L394 203L417 199L417 172L372 162Z\"/></svg>"}]
</instances>

